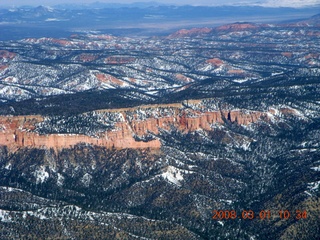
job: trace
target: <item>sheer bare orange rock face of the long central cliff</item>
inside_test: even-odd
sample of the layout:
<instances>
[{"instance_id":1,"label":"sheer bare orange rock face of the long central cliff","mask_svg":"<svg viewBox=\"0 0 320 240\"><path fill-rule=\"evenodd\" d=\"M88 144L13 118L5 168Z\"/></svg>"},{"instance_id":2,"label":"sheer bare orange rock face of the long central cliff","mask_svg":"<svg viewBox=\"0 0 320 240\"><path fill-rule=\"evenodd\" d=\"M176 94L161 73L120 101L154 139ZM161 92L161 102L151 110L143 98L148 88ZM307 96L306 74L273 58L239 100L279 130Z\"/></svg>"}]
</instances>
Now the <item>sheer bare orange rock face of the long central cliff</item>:
<instances>
[{"instance_id":1,"label":"sheer bare orange rock face of the long central cliff","mask_svg":"<svg viewBox=\"0 0 320 240\"><path fill-rule=\"evenodd\" d=\"M157 111L158 105L143 106L148 110ZM83 134L43 134L35 130L37 124L43 122L42 116L2 116L0 117L0 145L10 148L33 147L33 148L69 148L79 143L105 146L107 148L153 148L161 147L157 138L149 141L137 141L134 137L145 137L148 134L157 135L159 129L170 130L175 127L183 133L196 131L198 129L211 130L212 124L223 124L225 121L231 123L248 125L258 121L267 113L255 111L196 111L183 108L180 104L161 106L170 108L171 115L147 117L139 119L136 109L100 110L100 112L118 111L123 116L123 121L115 123L112 130L105 131L95 137ZM129 119L128 114L134 116Z\"/></svg>"}]
</instances>

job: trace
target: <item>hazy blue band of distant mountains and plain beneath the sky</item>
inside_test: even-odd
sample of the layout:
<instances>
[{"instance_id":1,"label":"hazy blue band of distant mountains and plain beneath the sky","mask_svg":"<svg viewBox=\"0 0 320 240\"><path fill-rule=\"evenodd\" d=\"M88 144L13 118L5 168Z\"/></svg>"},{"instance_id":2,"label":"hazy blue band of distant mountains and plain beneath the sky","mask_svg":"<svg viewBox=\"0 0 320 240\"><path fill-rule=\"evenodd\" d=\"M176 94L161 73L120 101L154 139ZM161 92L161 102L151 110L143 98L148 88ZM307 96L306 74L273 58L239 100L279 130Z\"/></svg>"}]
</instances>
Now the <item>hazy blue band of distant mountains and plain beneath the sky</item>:
<instances>
[{"instance_id":1,"label":"hazy blue band of distant mountains and plain beneath the sky","mask_svg":"<svg viewBox=\"0 0 320 240\"><path fill-rule=\"evenodd\" d=\"M320 7L195 7L154 3L3 8L0 9L0 40L67 37L92 30L118 36L166 35L181 28L215 27L235 21L277 23L305 19L319 12Z\"/></svg>"}]
</instances>

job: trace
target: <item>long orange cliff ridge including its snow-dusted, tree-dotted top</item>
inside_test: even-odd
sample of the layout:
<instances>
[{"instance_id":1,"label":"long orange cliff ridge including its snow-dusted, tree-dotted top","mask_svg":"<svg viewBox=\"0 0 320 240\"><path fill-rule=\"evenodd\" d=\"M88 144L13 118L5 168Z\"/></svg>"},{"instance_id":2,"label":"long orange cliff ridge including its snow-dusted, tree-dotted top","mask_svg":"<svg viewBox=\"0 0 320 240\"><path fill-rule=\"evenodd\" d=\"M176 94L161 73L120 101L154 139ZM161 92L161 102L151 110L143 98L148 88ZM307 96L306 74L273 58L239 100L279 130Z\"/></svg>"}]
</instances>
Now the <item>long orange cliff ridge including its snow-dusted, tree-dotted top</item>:
<instances>
[{"instance_id":1,"label":"long orange cliff ridge including its snow-dusted, tree-dotted top","mask_svg":"<svg viewBox=\"0 0 320 240\"><path fill-rule=\"evenodd\" d=\"M210 131L216 124L230 122L249 125L257 121L269 121L279 111L270 109L267 112L243 109L221 110L208 108L203 101L195 100L185 103L145 105L136 108L97 110L97 120L108 123L109 128L91 134L70 133L68 127L64 131L52 131L55 126L48 117L40 115L1 116L0 145L11 148L69 148L79 143L104 146L107 148L152 148L159 149L161 141L157 137L160 129L169 131L172 127L182 133L203 129ZM292 109L281 110L283 114L293 114ZM85 118L85 114L82 116ZM88 117L88 116L87 116ZM64 121L60 121L63 125ZM72 127L72 126L71 126ZM51 132L40 130L47 128Z\"/></svg>"}]
</instances>

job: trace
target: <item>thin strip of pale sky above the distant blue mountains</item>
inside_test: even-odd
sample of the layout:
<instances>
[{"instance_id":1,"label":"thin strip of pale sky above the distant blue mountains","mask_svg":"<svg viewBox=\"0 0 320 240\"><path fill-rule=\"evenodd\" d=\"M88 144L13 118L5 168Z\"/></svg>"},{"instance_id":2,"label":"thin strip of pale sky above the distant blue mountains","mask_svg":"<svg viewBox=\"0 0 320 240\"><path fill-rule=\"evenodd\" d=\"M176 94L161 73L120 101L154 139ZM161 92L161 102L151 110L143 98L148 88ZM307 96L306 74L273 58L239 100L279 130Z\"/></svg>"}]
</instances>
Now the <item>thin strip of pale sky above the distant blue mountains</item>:
<instances>
[{"instance_id":1,"label":"thin strip of pale sky above the distant blue mountains","mask_svg":"<svg viewBox=\"0 0 320 240\"><path fill-rule=\"evenodd\" d=\"M0 5L20 6L20 5L45 5L54 6L57 4L88 4L93 2L104 3L132 3L132 2L151 2L152 0L0 0ZM154 1L154 0L153 0ZM303 7L319 4L320 0L155 0L154 2L174 4L174 5L262 5L268 7Z\"/></svg>"}]
</instances>

